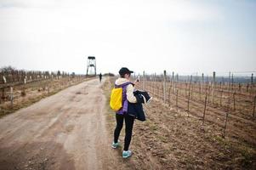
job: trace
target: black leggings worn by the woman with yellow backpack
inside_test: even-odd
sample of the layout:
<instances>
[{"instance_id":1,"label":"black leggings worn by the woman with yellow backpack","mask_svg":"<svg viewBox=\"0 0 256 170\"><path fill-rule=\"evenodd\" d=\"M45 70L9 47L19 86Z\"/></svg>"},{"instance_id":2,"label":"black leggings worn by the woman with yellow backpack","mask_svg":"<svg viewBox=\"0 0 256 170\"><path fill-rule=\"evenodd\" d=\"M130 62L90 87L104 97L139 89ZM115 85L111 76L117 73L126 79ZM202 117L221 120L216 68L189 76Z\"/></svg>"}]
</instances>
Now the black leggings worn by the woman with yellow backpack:
<instances>
[{"instance_id":1,"label":"black leggings worn by the woman with yellow backpack","mask_svg":"<svg viewBox=\"0 0 256 170\"><path fill-rule=\"evenodd\" d=\"M125 121L125 138L123 150L128 150L132 139L134 116L116 114L117 127L114 132L114 142L117 143L122 130L123 119Z\"/></svg>"}]
</instances>

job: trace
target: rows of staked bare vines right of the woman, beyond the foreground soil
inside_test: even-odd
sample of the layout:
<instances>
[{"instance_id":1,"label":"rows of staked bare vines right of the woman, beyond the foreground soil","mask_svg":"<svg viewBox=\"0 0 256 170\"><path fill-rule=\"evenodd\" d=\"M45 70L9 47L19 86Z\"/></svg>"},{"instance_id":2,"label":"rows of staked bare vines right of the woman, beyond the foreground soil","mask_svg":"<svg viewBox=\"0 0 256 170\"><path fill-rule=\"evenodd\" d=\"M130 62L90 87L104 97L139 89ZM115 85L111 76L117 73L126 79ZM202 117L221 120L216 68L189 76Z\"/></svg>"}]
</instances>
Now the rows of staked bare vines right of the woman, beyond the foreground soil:
<instances>
[{"instance_id":1,"label":"rows of staked bare vines right of the woman, beyond the foreground soil","mask_svg":"<svg viewBox=\"0 0 256 170\"><path fill-rule=\"evenodd\" d=\"M251 83L234 82L233 76L226 82L217 82L214 75L207 81L203 75L201 80L198 77L193 80L190 76L179 81L179 77L167 76L164 71L160 76L144 75L140 88L149 91L163 105L185 111L188 116L197 116L202 124L212 122L223 127L223 137L230 126L229 130L237 137L255 144L256 86L253 75Z\"/></svg>"}]
</instances>

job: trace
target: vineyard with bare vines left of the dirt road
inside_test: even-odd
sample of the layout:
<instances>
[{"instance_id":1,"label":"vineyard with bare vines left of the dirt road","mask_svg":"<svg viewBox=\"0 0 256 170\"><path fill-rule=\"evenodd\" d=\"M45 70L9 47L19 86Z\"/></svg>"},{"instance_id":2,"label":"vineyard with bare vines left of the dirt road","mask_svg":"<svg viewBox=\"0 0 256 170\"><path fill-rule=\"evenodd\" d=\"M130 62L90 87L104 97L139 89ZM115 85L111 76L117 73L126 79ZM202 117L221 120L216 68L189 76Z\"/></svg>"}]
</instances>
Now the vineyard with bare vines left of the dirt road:
<instances>
[{"instance_id":1,"label":"vineyard with bare vines left of the dirt road","mask_svg":"<svg viewBox=\"0 0 256 170\"><path fill-rule=\"evenodd\" d=\"M64 71L20 71L10 66L3 68L0 71L0 116L85 79L83 75L70 75Z\"/></svg>"}]
</instances>

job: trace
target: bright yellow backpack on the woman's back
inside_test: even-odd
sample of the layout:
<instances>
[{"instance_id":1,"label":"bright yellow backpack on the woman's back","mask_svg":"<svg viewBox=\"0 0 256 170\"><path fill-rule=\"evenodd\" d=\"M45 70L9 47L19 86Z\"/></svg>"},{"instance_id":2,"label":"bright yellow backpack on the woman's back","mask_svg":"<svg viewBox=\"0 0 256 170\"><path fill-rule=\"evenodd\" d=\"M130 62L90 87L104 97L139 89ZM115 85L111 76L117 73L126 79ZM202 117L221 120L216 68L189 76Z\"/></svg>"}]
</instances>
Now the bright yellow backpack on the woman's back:
<instances>
[{"instance_id":1,"label":"bright yellow backpack on the woman's back","mask_svg":"<svg viewBox=\"0 0 256 170\"><path fill-rule=\"evenodd\" d=\"M123 83L119 86L116 86L111 91L111 109L114 111L119 111L122 108L122 88L126 85L130 84L130 82Z\"/></svg>"}]
</instances>

